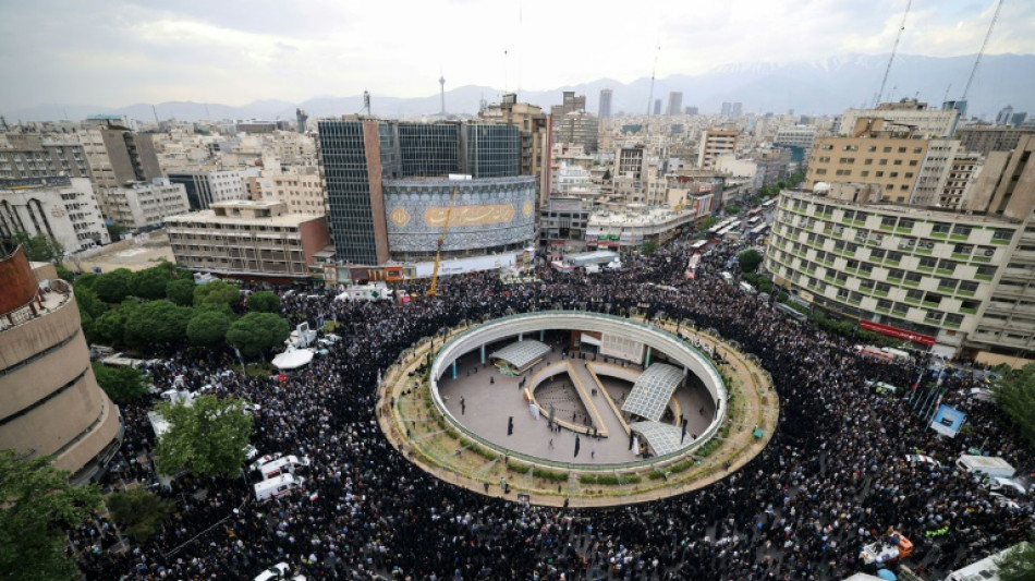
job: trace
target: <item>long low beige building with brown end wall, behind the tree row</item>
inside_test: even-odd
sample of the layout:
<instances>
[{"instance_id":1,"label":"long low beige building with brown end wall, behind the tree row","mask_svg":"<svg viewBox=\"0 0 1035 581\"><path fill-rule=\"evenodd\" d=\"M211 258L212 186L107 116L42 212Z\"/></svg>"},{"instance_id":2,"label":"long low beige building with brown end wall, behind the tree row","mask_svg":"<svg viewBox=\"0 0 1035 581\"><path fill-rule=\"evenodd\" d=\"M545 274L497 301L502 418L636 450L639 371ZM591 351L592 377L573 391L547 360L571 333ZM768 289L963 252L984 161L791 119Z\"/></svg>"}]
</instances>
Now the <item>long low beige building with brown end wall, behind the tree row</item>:
<instances>
[{"instance_id":1,"label":"long low beige building with brown end wall, behind the tree row","mask_svg":"<svg viewBox=\"0 0 1035 581\"><path fill-rule=\"evenodd\" d=\"M308 279L314 255L330 243L322 214L289 214L279 201L217 202L168 217L166 231L180 266L284 282Z\"/></svg>"}]
</instances>

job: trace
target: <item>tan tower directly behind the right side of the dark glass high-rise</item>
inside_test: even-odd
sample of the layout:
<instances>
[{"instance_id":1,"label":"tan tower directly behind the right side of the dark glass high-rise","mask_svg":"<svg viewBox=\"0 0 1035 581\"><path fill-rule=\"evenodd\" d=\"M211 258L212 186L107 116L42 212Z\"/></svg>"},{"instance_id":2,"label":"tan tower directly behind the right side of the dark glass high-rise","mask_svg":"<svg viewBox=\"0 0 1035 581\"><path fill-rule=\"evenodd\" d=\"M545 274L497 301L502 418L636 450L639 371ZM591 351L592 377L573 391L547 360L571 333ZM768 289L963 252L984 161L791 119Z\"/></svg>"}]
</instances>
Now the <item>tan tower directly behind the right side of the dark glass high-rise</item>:
<instances>
[{"instance_id":1,"label":"tan tower directly behind the right side of the dark glass high-rise","mask_svg":"<svg viewBox=\"0 0 1035 581\"><path fill-rule=\"evenodd\" d=\"M499 105L489 105L478 113L487 122L516 126L521 132L522 175L535 175L539 207L550 195L550 143L553 130L550 118L537 105L518 102L518 95L503 95Z\"/></svg>"}]
</instances>

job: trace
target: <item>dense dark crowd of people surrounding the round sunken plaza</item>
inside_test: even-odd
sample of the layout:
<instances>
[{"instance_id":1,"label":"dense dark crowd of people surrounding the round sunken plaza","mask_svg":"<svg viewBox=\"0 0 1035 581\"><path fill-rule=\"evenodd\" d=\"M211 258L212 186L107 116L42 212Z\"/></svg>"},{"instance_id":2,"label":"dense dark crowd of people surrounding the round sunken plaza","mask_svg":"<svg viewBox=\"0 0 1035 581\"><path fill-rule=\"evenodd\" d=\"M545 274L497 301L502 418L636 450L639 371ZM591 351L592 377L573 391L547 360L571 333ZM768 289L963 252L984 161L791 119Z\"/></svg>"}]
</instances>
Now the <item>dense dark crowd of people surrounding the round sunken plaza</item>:
<instances>
[{"instance_id":1,"label":"dense dark crowd of people surrounding the round sunken plaza","mask_svg":"<svg viewBox=\"0 0 1035 581\"><path fill-rule=\"evenodd\" d=\"M867 384L908 390L922 361L868 359L845 338L787 318L771 298L727 283L718 275L739 245L713 250L686 279L691 242L593 275L555 271L540 256L536 282L456 276L439 282L442 296L405 305L334 301L330 292L285 296L281 311L293 325L336 319L342 340L283 378L228 373L228 352L156 353L165 363L148 373L160 389L182 375L191 389L211 385L258 404L254 446L308 457L305 491L257 503L247 475L157 484L149 404L123 407L125 441L105 484L139 482L174 499L176 511L143 544L123 542L100 517L85 523L72 534L82 570L105 580L253 579L288 562L306 579L843 579L864 570L861 547L893 529L915 545L905 562L941 579L1027 537L1028 506L997 503L952 467L969 448L1035 465L994 404L960 395L976 379L943 380L945 402L966 413L970 428L939 436L905 396ZM421 296L423 288L407 290ZM388 444L375 389L403 350L465 319L555 307L663 313L735 341L779 394L770 444L714 485L609 509L483 496L439 481ZM909 463L912 453L942 463Z\"/></svg>"}]
</instances>

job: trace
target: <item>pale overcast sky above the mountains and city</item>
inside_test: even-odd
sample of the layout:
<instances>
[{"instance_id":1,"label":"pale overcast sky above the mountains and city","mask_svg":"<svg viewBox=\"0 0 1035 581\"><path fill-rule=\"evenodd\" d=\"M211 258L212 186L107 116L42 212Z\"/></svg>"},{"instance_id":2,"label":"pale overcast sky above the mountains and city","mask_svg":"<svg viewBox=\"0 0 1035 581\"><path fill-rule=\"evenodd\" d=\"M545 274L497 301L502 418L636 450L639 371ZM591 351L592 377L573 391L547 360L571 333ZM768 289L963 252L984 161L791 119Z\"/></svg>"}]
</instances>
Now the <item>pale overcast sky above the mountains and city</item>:
<instances>
[{"instance_id":1,"label":"pale overcast sky above the mountains and city","mask_svg":"<svg viewBox=\"0 0 1035 581\"><path fill-rule=\"evenodd\" d=\"M905 0L0 0L0 110L548 89L886 53ZM977 51L995 0L914 0L900 53ZM658 50L660 47L660 50ZM504 58L504 51L507 57ZM1035 52L1007 0L988 53Z\"/></svg>"}]
</instances>

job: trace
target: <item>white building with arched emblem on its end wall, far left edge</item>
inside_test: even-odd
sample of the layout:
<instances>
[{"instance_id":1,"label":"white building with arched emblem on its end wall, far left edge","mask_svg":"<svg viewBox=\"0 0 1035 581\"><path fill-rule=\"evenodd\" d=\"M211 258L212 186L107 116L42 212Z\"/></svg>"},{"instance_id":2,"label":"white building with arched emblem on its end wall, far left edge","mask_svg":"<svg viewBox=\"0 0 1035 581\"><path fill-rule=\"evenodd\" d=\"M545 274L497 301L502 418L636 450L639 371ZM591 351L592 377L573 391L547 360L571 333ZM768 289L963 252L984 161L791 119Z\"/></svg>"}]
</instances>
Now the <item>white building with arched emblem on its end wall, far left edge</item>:
<instances>
[{"instance_id":1,"label":"white building with arched emblem on its end wall, far left edge","mask_svg":"<svg viewBox=\"0 0 1035 581\"><path fill-rule=\"evenodd\" d=\"M86 178L0 180L0 237L46 234L65 251L111 242Z\"/></svg>"}]
</instances>

